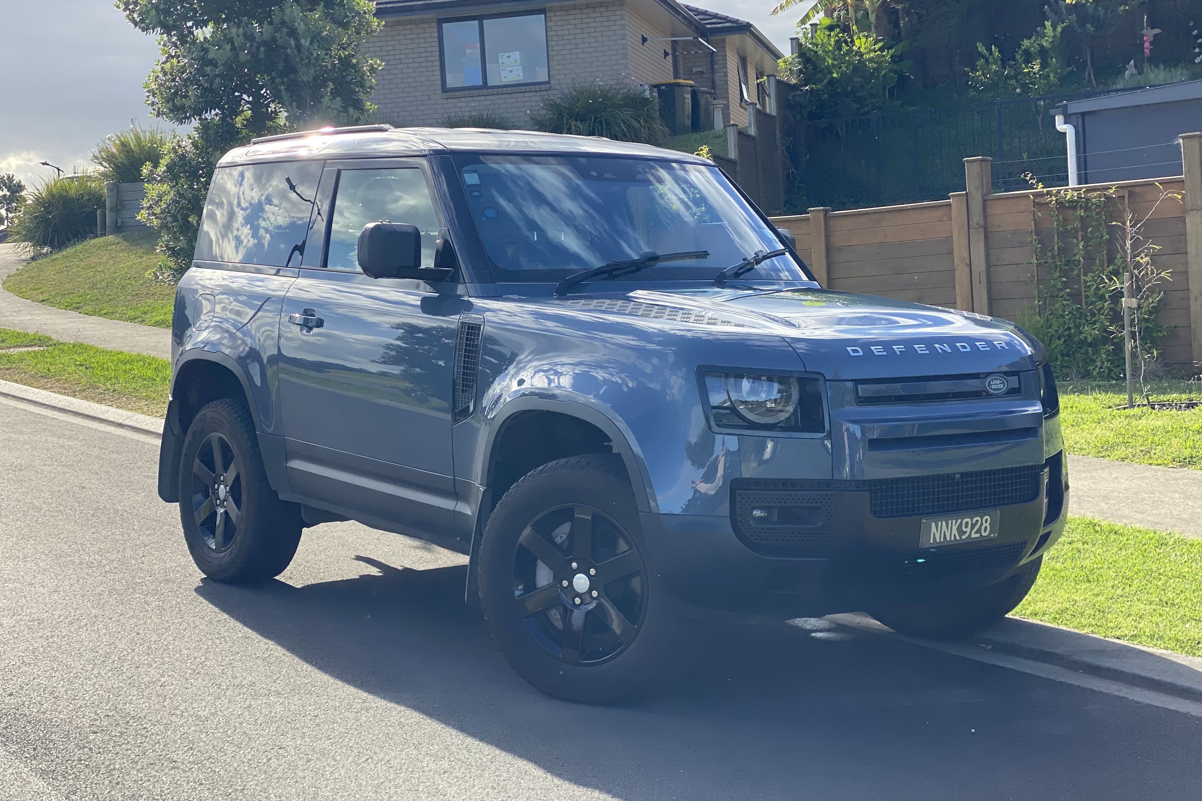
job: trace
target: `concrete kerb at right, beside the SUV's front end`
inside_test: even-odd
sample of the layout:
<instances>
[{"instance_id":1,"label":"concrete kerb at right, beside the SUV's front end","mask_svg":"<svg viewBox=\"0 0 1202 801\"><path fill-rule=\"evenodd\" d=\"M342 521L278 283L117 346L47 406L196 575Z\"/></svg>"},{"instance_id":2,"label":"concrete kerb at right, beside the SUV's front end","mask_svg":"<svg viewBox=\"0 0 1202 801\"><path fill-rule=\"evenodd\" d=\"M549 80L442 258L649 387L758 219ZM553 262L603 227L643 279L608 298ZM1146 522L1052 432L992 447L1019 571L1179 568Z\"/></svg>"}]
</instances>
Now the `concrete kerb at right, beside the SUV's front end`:
<instances>
[{"instance_id":1,"label":"concrete kerb at right, beside the SUV's front end","mask_svg":"<svg viewBox=\"0 0 1202 801\"><path fill-rule=\"evenodd\" d=\"M831 615L827 619L926 647L947 649L948 646L954 646L1007 654L1185 701L1202 702L1202 658L1109 640L1037 621L1007 617L972 637L944 643L898 634L862 612Z\"/></svg>"}]
</instances>

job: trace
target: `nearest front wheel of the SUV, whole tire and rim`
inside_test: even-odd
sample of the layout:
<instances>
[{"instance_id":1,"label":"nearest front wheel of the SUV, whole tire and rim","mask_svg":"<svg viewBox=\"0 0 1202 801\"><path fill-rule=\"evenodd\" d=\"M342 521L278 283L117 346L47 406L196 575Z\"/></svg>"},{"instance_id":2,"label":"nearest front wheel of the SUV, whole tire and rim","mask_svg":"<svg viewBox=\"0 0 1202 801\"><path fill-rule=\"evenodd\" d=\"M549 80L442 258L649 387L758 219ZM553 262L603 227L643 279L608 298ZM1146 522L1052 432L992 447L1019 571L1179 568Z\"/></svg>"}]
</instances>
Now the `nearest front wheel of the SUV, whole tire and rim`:
<instances>
[{"instance_id":1,"label":"nearest front wheel of the SUV, whole tire and rim","mask_svg":"<svg viewBox=\"0 0 1202 801\"><path fill-rule=\"evenodd\" d=\"M481 609L513 670L548 695L605 704L683 666L694 627L645 554L619 457L559 459L514 483L477 560Z\"/></svg>"}]
</instances>

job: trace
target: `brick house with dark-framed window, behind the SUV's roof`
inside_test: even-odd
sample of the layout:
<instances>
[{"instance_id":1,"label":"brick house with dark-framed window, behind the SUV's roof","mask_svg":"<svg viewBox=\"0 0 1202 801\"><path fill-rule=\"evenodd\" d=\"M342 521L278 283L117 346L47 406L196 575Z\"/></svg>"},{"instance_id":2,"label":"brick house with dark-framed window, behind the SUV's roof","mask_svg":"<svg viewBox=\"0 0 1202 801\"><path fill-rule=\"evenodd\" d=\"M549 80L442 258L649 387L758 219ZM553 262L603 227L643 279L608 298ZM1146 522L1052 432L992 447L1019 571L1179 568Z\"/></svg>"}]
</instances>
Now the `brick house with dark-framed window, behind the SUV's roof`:
<instances>
[{"instance_id":1,"label":"brick house with dark-framed window, behind the SUV's roof","mask_svg":"<svg viewBox=\"0 0 1202 801\"><path fill-rule=\"evenodd\" d=\"M775 111L774 78L761 78L776 75L781 53L751 23L677 0L375 5L385 28L364 52L385 66L373 101L380 120L397 126L488 112L529 127L545 97L595 81L645 87L674 102L689 95L697 108L688 112L690 130L748 127L749 118L754 127L752 105ZM679 88L655 87L672 81Z\"/></svg>"}]
</instances>

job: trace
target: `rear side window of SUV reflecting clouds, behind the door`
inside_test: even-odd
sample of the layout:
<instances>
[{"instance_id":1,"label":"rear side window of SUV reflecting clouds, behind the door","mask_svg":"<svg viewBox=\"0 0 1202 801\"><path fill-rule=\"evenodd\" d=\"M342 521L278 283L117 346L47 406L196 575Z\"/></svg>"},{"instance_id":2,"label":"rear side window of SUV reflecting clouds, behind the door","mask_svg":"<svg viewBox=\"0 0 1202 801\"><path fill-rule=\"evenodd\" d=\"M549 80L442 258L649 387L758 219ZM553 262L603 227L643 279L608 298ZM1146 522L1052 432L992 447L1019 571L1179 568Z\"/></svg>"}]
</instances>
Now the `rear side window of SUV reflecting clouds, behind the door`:
<instances>
[{"instance_id":1,"label":"rear side window of SUV reflecting clouds, behind the door","mask_svg":"<svg viewBox=\"0 0 1202 801\"><path fill-rule=\"evenodd\" d=\"M321 167L321 161L281 161L219 168L196 259L299 267Z\"/></svg>"}]
</instances>

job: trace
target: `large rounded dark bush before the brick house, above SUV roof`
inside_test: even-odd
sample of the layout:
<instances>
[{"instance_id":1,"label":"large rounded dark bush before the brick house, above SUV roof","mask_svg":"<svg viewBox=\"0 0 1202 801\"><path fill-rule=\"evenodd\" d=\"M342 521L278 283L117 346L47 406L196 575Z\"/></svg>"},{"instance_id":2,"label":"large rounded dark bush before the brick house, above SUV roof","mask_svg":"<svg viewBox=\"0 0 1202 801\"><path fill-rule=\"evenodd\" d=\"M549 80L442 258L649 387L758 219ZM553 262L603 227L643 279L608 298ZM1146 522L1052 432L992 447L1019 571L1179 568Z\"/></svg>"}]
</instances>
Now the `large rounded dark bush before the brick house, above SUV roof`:
<instances>
[{"instance_id":1,"label":"large rounded dark bush before the brick house, above SUV roof","mask_svg":"<svg viewBox=\"0 0 1202 801\"><path fill-rule=\"evenodd\" d=\"M542 101L535 127L551 134L603 136L619 142L662 144L671 136L659 103L633 87L582 84Z\"/></svg>"}]
</instances>

